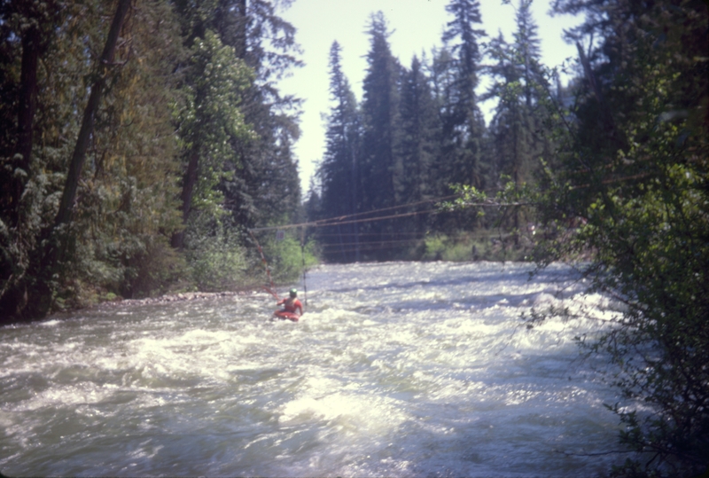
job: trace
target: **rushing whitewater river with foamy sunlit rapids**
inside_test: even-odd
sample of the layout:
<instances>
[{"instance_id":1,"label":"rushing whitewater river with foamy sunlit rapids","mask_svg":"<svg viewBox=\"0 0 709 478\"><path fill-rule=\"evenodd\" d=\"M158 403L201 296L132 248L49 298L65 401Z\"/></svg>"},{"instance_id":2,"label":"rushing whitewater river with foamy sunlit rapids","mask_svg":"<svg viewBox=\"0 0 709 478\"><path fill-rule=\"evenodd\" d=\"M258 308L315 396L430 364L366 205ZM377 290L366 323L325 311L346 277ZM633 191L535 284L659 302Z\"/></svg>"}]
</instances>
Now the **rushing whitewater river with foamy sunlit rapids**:
<instances>
[{"instance_id":1,"label":"rushing whitewater river with foamy sunlit rapids","mask_svg":"<svg viewBox=\"0 0 709 478\"><path fill-rule=\"evenodd\" d=\"M617 401L575 335L612 315L554 264L308 271L307 313L265 293L104 305L0 328L8 476L588 476ZM302 281L300 285L302 288ZM284 287L284 292L286 288ZM305 299L300 294L301 300ZM560 304L588 318L527 330Z\"/></svg>"}]
</instances>

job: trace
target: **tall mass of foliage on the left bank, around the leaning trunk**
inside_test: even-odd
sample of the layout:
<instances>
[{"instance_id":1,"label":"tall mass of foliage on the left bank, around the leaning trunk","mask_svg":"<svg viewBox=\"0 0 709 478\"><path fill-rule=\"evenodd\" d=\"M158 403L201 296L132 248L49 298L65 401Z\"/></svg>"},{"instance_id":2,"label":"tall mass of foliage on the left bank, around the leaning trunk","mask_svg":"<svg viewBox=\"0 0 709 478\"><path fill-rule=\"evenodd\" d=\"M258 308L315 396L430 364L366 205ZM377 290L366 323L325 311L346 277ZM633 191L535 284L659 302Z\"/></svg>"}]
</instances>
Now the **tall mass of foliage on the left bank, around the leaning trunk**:
<instances>
[{"instance_id":1,"label":"tall mass of foliage on the left bank, around the leaning trunk","mask_svg":"<svg viewBox=\"0 0 709 478\"><path fill-rule=\"evenodd\" d=\"M160 294L175 283L233 286L242 280L244 259L234 251L243 236L213 227L189 266L187 254L168 247L191 209L212 223L226 222L225 210L253 221L250 204L271 204L267 220L282 220L286 203L296 214L297 127L285 110L297 101L269 82L298 64L294 29L275 3L249 2L248 12L243 5L151 0L130 10L105 66L71 221L53 231L116 3L0 4L0 321L27 317L37 301L68 308ZM199 161L185 209L180 191L192 158ZM46 277L45 252L58 232L66 255Z\"/></svg>"}]
</instances>

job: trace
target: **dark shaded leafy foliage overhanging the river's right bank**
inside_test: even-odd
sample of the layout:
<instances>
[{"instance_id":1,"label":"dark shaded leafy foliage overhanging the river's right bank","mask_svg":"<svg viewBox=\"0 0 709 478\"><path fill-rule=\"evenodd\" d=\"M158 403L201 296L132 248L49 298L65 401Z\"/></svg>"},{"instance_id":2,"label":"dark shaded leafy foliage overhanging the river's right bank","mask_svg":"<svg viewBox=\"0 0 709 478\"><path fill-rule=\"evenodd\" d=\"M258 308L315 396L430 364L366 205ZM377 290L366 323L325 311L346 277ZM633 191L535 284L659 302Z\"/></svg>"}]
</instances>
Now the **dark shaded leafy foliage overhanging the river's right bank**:
<instances>
[{"instance_id":1,"label":"dark shaded leafy foliage overhanging the river's right bank","mask_svg":"<svg viewBox=\"0 0 709 478\"><path fill-rule=\"evenodd\" d=\"M613 474L692 476L709 462L709 12L701 2L583 8L604 21L580 30L604 42L542 181L549 240L538 259L589 254L592 290L622 305L600 338L581 342L611 357L621 397L610 409L636 452Z\"/></svg>"}]
</instances>

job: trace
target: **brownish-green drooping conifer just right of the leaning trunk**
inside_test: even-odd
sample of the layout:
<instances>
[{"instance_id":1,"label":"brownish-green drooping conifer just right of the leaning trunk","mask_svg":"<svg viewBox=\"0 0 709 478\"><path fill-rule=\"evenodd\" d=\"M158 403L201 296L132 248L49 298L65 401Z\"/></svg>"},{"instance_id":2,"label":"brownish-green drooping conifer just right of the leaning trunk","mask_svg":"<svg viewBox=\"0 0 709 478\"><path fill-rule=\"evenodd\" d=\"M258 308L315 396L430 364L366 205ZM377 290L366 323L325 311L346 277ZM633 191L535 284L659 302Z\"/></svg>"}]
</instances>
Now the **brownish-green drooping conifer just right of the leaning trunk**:
<instances>
[{"instance_id":1,"label":"brownish-green drooping conifer just right of the leaning trunk","mask_svg":"<svg viewBox=\"0 0 709 478\"><path fill-rule=\"evenodd\" d=\"M169 107L175 82L160 79L183 54L175 46L175 28L161 25L171 18L167 5L151 4L127 26L134 61L117 72L105 92L93 135L96 149L87 159L82 201L74 211L79 264L74 277L123 296L164 290L175 263L164 234L178 221L177 142ZM122 54L127 58L129 51ZM146 263L156 269L146 270Z\"/></svg>"}]
</instances>

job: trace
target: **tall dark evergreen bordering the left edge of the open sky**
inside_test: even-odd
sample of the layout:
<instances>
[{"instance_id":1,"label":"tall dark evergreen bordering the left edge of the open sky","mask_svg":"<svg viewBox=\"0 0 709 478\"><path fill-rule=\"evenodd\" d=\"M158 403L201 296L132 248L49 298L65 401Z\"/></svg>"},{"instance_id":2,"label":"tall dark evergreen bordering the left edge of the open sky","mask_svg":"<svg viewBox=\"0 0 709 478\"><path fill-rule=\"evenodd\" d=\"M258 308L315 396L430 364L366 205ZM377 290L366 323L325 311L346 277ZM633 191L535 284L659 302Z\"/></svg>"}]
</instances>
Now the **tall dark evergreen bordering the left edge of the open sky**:
<instances>
[{"instance_id":1,"label":"tall dark evergreen bordering the left edge of the open sky","mask_svg":"<svg viewBox=\"0 0 709 478\"><path fill-rule=\"evenodd\" d=\"M300 100L281 96L276 82L300 67L295 28L277 15L290 1L219 0L214 27L255 72L241 110L256 136L234 144L239 161L222 183L226 207L236 223L287 223L300 208L298 163L292 144L300 136Z\"/></svg>"}]
</instances>

